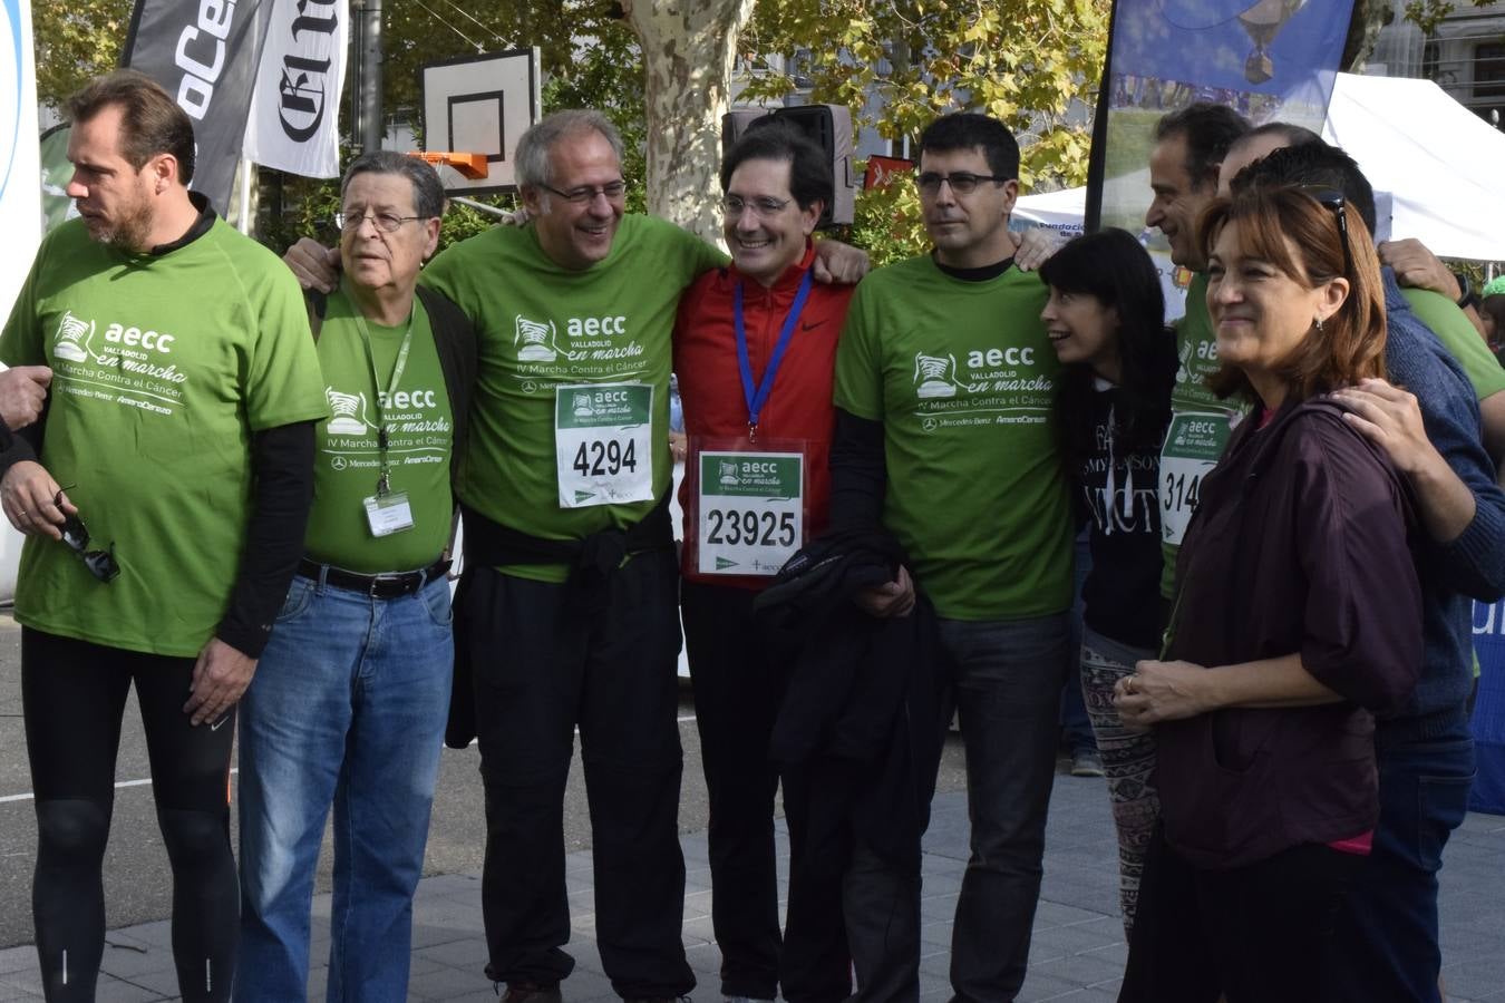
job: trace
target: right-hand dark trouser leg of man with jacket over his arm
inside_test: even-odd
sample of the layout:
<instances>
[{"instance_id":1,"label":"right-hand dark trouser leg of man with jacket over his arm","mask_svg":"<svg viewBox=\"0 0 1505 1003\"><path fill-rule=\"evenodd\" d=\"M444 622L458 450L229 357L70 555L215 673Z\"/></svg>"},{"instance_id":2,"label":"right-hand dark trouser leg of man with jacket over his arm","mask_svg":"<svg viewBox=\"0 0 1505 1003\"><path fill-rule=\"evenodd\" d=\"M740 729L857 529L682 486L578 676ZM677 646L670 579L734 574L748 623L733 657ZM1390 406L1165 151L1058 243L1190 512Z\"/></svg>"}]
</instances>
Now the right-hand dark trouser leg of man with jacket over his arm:
<instances>
[{"instance_id":1,"label":"right-hand dark trouser leg of man with jacket over his arm","mask_svg":"<svg viewBox=\"0 0 1505 1003\"><path fill-rule=\"evenodd\" d=\"M972 856L951 931L956 1000L1013 1000L1040 898L1070 615L941 621L956 663Z\"/></svg>"}]
</instances>

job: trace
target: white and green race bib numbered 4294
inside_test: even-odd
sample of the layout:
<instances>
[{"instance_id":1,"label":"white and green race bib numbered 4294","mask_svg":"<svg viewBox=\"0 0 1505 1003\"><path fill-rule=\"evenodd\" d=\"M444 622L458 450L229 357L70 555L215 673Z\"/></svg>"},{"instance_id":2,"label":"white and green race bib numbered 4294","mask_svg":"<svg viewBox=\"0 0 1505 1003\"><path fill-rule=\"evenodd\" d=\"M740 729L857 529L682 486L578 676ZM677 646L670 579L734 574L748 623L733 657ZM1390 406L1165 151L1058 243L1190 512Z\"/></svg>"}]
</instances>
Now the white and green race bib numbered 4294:
<instances>
[{"instance_id":1,"label":"white and green race bib numbered 4294","mask_svg":"<svg viewBox=\"0 0 1505 1003\"><path fill-rule=\"evenodd\" d=\"M653 388L567 383L554 395L560 508L653 501Z\"/></svg>"}]
</instances>

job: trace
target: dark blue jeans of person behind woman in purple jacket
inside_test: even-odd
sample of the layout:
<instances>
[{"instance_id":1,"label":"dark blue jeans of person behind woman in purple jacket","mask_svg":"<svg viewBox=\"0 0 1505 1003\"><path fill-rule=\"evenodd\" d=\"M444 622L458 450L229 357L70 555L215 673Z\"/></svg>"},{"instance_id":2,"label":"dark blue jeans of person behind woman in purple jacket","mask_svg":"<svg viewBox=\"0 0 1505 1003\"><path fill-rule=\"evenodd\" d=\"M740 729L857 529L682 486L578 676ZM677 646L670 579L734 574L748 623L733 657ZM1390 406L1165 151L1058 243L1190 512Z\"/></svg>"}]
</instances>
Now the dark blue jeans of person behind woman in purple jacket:
<instances>
[{"instance_id":1,"label":"dark blue jeans of person behind woman in purple jacket","mask_svg":"<svg viewBox=\"0 0 1505 1003\"><path fill-rule=\"evenodd\" d=\"M1376 735L1380 824L1339 917L1332 1000L1436 1003L1437 871L1463 823L1473 783L1473 738L1389 744Z\"/></svg>"}]
</instances>

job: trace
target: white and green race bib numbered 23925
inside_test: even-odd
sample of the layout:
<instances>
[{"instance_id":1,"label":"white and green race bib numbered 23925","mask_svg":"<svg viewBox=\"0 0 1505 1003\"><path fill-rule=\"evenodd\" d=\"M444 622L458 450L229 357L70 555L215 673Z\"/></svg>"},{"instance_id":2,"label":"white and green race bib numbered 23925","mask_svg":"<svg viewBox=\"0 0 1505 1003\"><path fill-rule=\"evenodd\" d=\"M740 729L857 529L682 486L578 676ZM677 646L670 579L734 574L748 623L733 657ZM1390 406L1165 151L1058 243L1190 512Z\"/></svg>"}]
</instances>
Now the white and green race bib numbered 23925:
<instances>
[{"instance_id":1,"label":"white and green race bib numbered 23925","mask_svg":"<svg viewBox=\"0 0 1505 1003\"><path fill-rule=\"evenodd\" d=\"M778 574L805 538L805 457L703 451L695 534L701 574Z\"/></svg>"}]
</instances>

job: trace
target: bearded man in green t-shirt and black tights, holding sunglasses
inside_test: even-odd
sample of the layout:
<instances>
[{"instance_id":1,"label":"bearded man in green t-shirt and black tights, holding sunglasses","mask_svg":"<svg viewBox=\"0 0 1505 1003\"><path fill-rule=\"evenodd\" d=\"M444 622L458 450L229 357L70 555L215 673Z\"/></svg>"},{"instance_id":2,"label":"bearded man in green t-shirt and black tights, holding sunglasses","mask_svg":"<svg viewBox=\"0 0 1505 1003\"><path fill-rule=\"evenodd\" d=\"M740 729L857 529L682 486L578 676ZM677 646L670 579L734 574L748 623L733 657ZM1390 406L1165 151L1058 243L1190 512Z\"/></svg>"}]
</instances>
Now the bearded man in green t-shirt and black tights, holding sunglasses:
<instances>
[{"instance_id":1,"label":"bearded man in green t-shirt and black tights, holding sunglasses","mask_svg":"<svg viewBox=\"0 0 1505 1003\"><path fill-rule=\"evenodd\" d=\"M134 686L179 989L227 1000L235 704L303 549L324 392L298 284L187 188L188 116L131 71L69 110L81 218L42 241L0 335L0 361L51 370L44 417L0 457L0 502L27 534L15 617L36 949L48 998L93 998Z\"/></svg>"}]
</instances>

